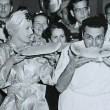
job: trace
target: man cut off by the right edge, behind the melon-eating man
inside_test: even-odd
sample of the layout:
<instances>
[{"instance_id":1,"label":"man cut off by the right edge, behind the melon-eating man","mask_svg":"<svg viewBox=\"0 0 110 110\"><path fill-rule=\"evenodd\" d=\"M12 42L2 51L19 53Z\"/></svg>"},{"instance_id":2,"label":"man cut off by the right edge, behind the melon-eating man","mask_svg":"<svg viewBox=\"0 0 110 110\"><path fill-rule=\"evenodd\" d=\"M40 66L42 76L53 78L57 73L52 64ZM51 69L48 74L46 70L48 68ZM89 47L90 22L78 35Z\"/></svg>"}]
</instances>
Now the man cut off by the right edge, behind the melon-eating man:
<instances>
[{"instance_id":1,"label":"man cut off by the right edge, behind the melon-eating man","mask_svg":"<svg viewBox=\"0 0 110 110\"><path fill-rule=\"evenodd\" d=\"M110 3L106 4L105 6L105 17L108 23L108 29L105 35L105 41L107 43L110 43Z\"/></svg>"}]
</instances>

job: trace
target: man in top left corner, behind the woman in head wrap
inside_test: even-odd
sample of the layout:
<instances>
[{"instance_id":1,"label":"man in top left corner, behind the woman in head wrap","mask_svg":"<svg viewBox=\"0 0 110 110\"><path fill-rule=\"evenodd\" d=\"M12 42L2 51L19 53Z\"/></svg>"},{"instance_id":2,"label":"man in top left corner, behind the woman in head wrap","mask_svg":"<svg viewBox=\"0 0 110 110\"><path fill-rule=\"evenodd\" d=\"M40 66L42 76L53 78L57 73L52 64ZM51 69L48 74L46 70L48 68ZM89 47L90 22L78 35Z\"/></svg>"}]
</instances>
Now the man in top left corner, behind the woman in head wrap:
<instances>
[{"instance_id":1,"label":"man in top left corner, behind the woman in head wrap","mask_svg":"<svg viewBox=\"0 0 110 110\"><path fill-rule=\"evenodd\" d=\"M4 35L5 22L8 19L13 9L12 0L0 0L0 41L5 42L6 37Z\"/></svg>"}]
</instances>

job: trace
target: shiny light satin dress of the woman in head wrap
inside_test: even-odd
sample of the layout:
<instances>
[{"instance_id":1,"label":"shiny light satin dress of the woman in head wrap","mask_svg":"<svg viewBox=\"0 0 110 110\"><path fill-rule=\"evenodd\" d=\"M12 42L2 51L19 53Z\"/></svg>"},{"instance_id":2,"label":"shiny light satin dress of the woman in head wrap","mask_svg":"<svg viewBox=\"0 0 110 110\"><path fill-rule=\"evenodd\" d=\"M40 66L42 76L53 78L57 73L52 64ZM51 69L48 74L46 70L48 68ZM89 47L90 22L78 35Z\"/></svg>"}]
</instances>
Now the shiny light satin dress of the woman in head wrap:
<instances>
[{"instance_id":1,"label":"shiny light satin dress of the woman in head wrap","mask_svg":"<svg viewBox=\"0 0 110 110\"><path fill-rule=\"evenodd\" d=\"M46 85L54 85L53 68L44 58L25 59L13 65L10 73L5 74L2 66L13 54L13 45L4 44L0 48L0 87L7 93L0 110L48 110L45 99Z\"/></svg>"}]
</instances>

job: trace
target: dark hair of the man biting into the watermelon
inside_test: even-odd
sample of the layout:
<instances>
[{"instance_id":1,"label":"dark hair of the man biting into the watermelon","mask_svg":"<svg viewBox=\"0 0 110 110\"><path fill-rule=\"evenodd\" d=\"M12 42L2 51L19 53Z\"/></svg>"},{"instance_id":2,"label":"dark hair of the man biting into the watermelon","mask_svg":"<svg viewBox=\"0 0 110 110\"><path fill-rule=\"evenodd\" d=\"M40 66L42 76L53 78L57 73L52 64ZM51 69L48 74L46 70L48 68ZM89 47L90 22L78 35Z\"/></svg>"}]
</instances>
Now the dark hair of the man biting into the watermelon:
<instances>
[{"instance_id":1,"label":"dark hair of the man biting into the watermelon","mask_svg":"<svg viewBox=\"0 0 110 110\"><path fill-rule=\"evenodd\" d=\"M104 33L106 33L106 30L107 30L107 22L105 19L103 19L100 16L93 16L93 17L83 20L82 26L81 26L81 30L82 30L81 32L83 33L85 32L86 26L93 27L93 28L103 27Z\"/></svg>"}]
</instances>

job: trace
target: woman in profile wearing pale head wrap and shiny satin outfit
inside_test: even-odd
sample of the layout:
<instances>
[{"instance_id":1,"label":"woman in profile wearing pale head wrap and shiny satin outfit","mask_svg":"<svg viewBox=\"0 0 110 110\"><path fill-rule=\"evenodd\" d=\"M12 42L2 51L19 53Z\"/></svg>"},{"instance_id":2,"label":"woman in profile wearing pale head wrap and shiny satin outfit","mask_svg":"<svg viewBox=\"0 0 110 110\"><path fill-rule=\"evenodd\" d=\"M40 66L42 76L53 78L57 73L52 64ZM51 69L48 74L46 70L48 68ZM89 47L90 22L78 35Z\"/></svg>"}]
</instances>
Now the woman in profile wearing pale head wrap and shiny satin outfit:
<instances>
[{"instance_id":1,"label":"woman in profile wearing pale head wrap and shiny satin outfit","mask_svg":"<svg viewBox=\"0 0 110 110\"><path fill-rule=\"evenodd\" d=\"M48 110L46 86L40 84L40 80L53 85L53 68L42 57L27 59L17 54L33 41L27 10L13 13L6 29L10 39L0 47L0 88L5 89L7 96L0 110Z\"/></svg>"}]
</instances>

